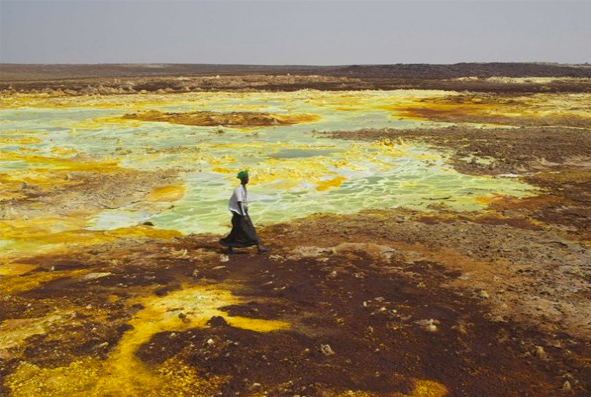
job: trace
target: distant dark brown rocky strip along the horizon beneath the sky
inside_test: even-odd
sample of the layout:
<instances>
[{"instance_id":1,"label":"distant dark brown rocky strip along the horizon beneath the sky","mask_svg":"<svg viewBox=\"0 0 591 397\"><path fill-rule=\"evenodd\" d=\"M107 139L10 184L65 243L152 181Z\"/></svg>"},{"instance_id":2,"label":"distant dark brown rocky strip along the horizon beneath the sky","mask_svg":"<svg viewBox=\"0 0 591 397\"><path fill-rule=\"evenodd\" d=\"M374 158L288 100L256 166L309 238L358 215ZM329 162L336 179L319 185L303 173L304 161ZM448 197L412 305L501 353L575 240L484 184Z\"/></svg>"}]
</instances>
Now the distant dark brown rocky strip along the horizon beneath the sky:
<instances>
[{"instance_id":1,"label":"distant dark brown rocky strip along the horizon beneath the sky","mask_svg":"<svg viewBox=\"0 0 591 397\"><path fill-rule=\"evenodd\" d=\"M525 81L497 77L529 78ZM539 81L535 78L549 78ZM492 80L491 80L492 78ZM228 90L442 89L495 93L591 92L591 66L454 65L18 65L0 64L0 91L53 95Z\"/></svg>"}]
</instances>

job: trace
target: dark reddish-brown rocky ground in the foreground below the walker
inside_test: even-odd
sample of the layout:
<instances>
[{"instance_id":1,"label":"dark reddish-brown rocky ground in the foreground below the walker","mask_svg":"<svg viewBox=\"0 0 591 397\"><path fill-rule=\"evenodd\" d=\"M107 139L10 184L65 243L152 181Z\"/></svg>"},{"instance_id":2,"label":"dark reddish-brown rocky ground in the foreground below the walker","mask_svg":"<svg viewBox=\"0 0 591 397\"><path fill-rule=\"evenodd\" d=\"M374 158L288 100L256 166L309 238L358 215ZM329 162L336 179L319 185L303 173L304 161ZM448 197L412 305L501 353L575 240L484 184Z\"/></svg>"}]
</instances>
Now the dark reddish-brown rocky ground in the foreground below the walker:
<instances>
[{"instance_id":1,"label":"dark reddish-brown rocky ground in the foreground below the walker","mask_svg":"<svg viewBox=\"0 0 591 397\"><path fill-rule=\"evenodd\" d=\"M291 327L257 333L213 318L206 328L157 333L136 356L148 366L174 357L205 378L223 376L223 396L444 395L413 394L414 379L443 384L450 396L589 391L583 244L519 218L404 211L319 215L264 228L262 238L270 255L227 258L215 236L188 236L30 258L36 273L65 273L4 295L2 316L38 318L59 306L72 319L4 351L0 373L21 361L104 359L142 308L125 303L138 291L223 285L244 299L225 308L230 316ZM103 276L67 274L76 270Z\"/></svg>"}]
</instances>

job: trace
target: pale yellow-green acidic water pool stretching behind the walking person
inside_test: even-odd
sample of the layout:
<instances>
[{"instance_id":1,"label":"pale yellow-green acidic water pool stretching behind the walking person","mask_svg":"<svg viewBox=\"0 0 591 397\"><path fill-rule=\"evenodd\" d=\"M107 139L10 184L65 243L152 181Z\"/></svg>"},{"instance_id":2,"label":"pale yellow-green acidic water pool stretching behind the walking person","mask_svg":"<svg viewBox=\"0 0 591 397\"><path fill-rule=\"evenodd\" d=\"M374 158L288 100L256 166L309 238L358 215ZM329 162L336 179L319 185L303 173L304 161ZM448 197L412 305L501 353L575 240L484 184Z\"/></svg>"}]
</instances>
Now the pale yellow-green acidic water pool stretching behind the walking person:
<instances>
[{"instance_id":1,"label":"pale yellow-green acidic water pool stretching behind the walking person","mask_svg":"<svg viewBox=\"0 0 591 397\"><path fill-rule=\"evenodd\" d=\"M225 233L227 200L241 169L251 173L250 212L260 224L364 208L429 210L444 204L454 210L477 211L496 195L535 194L531 186L516 179L460 174L446 163L448 154L423 145L354 142L322 134L445 125L403 119L392 111L417 98L444 95L450 93L300 91L5 100L0 110L0 176L12 175L15 182L15 178L25 180L27 175L51 170L75 170L85 166L80 155L97 160L92 164L95 168L180 170L181 186L123 208L79 215L79 221L58 222L60 233L108 231L145 221L182 233ZM120 119L147 109L307 114L318 120L219 128ZM73 156L78 156L75 166L68 163ZM3 230L9 227L5 224ZM10 249L12 243L5 237L2 244Z\"/></svg>"}]
</instances>

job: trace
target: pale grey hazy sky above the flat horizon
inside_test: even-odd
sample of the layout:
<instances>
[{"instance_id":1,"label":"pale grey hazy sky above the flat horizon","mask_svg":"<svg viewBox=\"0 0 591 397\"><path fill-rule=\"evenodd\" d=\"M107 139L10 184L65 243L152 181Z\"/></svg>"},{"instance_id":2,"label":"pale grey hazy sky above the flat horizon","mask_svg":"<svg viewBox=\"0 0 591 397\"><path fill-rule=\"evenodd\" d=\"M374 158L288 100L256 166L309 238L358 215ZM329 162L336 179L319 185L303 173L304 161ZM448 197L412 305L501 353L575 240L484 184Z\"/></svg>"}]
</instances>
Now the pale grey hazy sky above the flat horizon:
<instances>
[{"instance_id":1,"label":"pale grey hazy sky above the flat horizon","mask_svg":"<svg viewBox=\"0 0 591 397\"><path fill-rule=\"evenodd\" d=\"M0 0L0 62L591 62L589 1Z\"/></svg>"}]
</instances>

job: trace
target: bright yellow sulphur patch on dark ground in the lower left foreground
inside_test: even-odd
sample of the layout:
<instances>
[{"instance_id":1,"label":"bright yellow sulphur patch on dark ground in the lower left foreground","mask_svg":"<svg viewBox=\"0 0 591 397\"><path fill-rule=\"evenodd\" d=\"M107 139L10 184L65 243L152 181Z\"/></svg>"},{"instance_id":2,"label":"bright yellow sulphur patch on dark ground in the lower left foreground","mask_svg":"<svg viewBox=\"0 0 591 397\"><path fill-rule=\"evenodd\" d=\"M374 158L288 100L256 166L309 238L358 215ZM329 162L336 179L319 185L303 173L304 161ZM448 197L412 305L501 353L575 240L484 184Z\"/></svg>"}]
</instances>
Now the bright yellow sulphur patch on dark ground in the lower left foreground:
<instances>
[{"instance_id":1,"label":"bright yellow sulphur patch on dark ground in the lower left foreground","mask_svg":"<svg viewBox=\"0 0 591 397\"><path fill-rule=\"evenodd\" d=\"M282 321L230 317L220 309L240 302L241 299L229 291L203 287L183 288L163 297L133 300L130 304L142 304L144 309L129 321L133 329L123 334L106 360L86 357L57 368L40 368L23 362L7 377L5 385L14 397L213 395L222 378L204 378L195 368L174 358L148 367L136 358L135 353L157 333L205 327L213 316L222 316L233 327L255 332L289 327ZM34 329L31 332L41 331Z\"/></svg>"}]
</instances>

